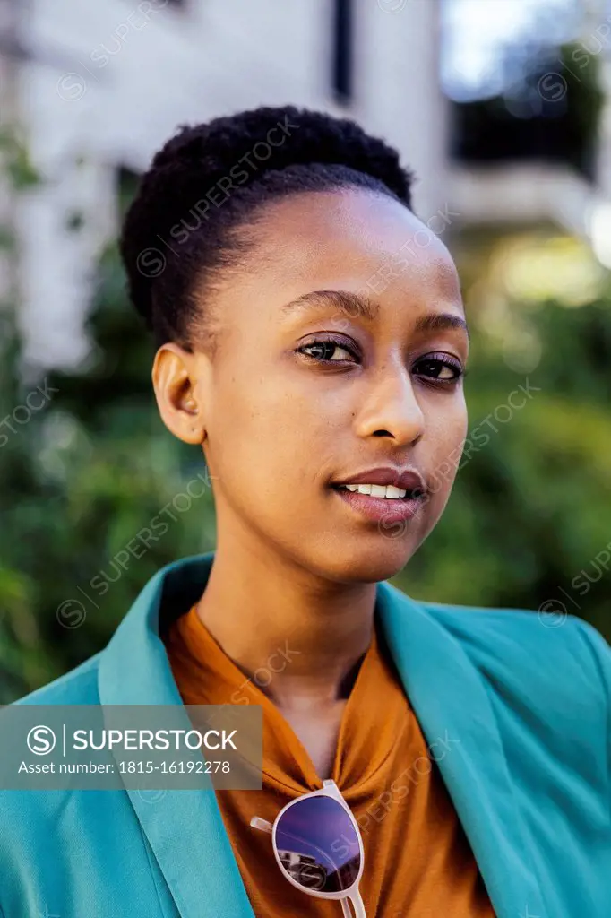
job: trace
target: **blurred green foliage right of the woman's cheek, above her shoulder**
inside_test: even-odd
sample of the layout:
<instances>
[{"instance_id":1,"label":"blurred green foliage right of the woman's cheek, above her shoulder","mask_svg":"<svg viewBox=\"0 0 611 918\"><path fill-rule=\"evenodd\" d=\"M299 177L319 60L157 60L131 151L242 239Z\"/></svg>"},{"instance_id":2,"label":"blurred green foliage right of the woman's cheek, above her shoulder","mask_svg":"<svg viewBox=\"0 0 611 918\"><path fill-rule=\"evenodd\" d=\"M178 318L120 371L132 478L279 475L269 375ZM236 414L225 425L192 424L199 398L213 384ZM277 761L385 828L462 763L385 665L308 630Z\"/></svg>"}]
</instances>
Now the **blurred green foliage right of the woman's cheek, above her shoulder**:
<instances>
[{"instance_id":1,"label":"blurred green foliage right of the woman's cheek, above her shoulder","mask_svg":"<svg viewBox=\"0 0 611 918\"><path fill-rule=\"evenodd\" d=\"M393 579L410 595L546 603L557 614L542 623L556 627L568 612L609 639L610 297L611 289L579 308L542 304L531 317L542 353L529 373L512 370L481 331L473 335L465 381L473 445L437 528Z\"/></svg>"}]
</instances>

